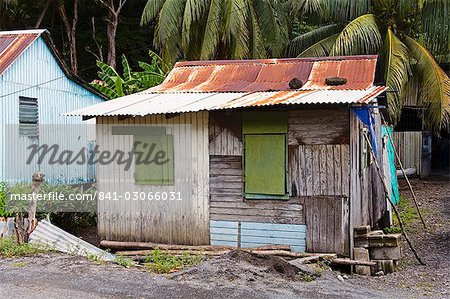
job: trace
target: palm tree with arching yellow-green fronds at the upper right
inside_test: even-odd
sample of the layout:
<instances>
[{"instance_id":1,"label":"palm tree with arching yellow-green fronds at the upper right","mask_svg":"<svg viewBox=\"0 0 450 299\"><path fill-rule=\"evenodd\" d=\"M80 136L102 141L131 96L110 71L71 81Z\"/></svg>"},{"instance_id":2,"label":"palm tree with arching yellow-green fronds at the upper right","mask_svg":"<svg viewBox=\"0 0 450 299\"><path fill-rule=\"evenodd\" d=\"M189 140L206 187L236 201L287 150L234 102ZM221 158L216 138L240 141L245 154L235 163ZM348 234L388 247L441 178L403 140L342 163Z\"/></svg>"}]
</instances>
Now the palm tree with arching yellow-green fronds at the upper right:
<instances>
[{"instance_id":1,"label":"palm tree with arching yellow-green fronds at the upper right","mask_svg":"<svg viewBox=\"0 0 450 299\"><path fill-rule=\"evenodd\" d=\"M428 125L436 131L449 125L450 80L435 59L450 61L449 0L317 1L326 25L293 39L291 56L380 54L392 121L413 94Z\"/></svg>"}]
</instances>

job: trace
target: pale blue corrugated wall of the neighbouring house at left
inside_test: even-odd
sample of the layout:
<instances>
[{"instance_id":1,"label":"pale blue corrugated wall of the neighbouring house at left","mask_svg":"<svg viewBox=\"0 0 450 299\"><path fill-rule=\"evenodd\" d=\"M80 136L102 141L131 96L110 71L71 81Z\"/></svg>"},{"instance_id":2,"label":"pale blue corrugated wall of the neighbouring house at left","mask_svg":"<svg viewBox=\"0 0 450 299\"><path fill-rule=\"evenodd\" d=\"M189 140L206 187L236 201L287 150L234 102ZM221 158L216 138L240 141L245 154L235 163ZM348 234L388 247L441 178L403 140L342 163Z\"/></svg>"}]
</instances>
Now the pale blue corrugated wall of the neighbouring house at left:
<instances>
[{"instance_id":1,"label":"pale blue corrugated wall of the neighbouring house at left","mask_svg":"<svg viewBox=\"0 0 450 299\"><path fill-rule=\"evenodd\" d=\"M41 170L49 182L88 181L87 165L26 165L26 147L38 141L19 137L17 127L11 126L18 125L19 96L38 99L39 144L57 142L61 148L77 150L87 146L87 127L80 117L62 114L102 101L69 80L44 40L36 40L0 77L0 180L30 180L34 171ZM11 161L15 162L13 169Z\"/></svg>"}]
</instances>

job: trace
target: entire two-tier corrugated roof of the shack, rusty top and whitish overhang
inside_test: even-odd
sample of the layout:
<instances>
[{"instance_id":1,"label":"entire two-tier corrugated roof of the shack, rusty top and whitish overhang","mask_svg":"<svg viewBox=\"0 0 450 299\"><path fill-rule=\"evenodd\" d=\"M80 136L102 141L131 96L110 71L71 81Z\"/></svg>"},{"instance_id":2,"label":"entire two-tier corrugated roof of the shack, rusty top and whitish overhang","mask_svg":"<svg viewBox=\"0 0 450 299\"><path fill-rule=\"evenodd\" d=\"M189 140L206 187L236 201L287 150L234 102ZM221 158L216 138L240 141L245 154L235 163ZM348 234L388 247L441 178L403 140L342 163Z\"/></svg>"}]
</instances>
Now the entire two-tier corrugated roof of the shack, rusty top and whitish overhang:
<instances>
[{"instance_id":1,"label":"entire two-tier corrugated roof of the shack, rusty top and whitish overhang","mask_svg":"<svg viewBox=\"0 0 450 299\"><path fill-rule=\"evenodd\" d=\"M377 56L195 61L177 63L146 91L67 115L144 116L294 104L368 104L386 90L374 86ZM328 77L347 83L325 84ZM289 81L304 82L290 89Z\"/></svg>"}]
</instances>

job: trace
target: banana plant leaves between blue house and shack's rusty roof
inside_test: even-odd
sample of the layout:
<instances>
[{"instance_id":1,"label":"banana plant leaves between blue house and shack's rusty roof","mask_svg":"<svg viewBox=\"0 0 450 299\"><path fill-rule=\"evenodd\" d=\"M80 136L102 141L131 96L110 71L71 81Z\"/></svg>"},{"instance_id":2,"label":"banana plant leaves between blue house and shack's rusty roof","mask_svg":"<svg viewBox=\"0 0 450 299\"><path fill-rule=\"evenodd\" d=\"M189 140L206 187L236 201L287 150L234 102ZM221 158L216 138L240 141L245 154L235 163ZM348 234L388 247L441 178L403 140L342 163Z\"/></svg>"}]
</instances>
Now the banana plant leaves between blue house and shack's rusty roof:
<instances>
[{"instance_id":1,"label":"banana plant leaves between blue house and shack's rusty roof","mask_svg":"<svg viewBox=\"0 0 450 299\"><path fill-rule=\"evenodd\" d=\"M101 81L95 80L91 85L109 99L130 95L158 85L164 81L170 67L165 65L156 53L150 51L149 56L151 63L139 61L142 71L133 72L127 58L122 55L122 76L113 67L97 61L97 66L100 68L98 76Z\"/></svg>"}]
</instances>

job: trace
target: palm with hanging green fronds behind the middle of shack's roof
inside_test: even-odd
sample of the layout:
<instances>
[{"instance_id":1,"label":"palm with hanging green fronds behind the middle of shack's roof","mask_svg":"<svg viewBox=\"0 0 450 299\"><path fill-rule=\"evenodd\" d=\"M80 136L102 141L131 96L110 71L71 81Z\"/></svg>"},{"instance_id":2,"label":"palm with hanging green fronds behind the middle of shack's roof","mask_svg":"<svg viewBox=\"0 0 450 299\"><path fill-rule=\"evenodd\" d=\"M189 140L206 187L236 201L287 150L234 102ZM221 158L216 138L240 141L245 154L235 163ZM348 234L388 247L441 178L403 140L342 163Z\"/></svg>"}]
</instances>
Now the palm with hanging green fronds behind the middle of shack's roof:
<instances>
[{"instance_id":1,"label":"palm with hanging green fronds behind the middle of shack's roof","mask_svg":"<svg viewBox=\"0 0 450 299\"><path fill-rule=\"evenodd\" d=\"M279 0L148 0L141 22L153 20L167 63L279 57L289 42Z\"/></svg>"}]
</instances>

